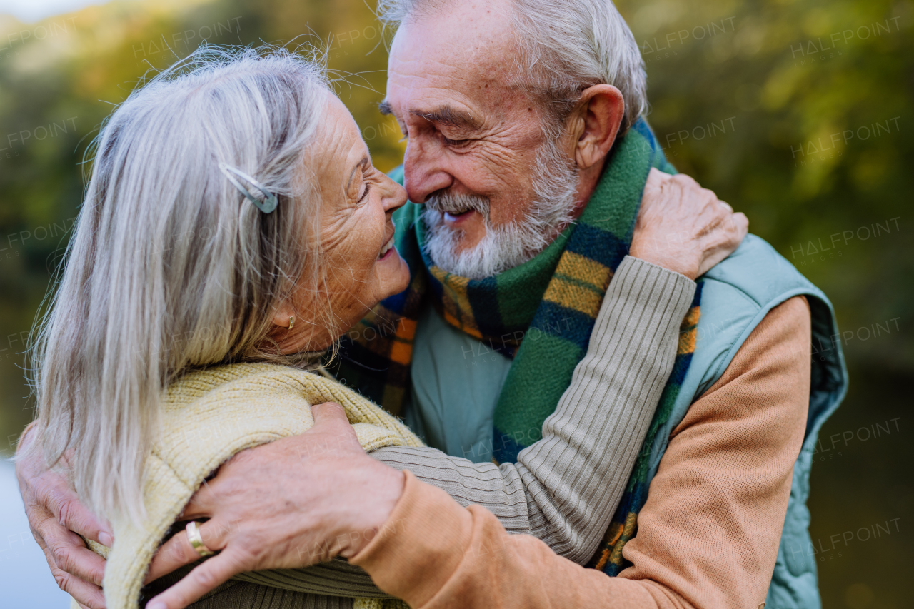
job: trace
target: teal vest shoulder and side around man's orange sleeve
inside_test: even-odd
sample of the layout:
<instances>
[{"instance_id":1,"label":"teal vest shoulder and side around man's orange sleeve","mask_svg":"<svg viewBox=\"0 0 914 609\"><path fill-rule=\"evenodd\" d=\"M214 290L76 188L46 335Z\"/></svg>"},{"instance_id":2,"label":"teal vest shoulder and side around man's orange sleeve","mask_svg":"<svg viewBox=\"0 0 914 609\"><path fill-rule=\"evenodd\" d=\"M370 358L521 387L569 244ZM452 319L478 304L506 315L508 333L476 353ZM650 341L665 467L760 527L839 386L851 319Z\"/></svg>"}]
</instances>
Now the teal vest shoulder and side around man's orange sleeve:
<instances>
[{"instance_id":1,"label":"teal vest shoulder and side around man's orange sleeve","mask_svg":"<svg viewBox=\"0 0 914 609\"><path fill-rule=\"evenodd\" d=\"M670 433L682 422L692 402L720 378L762 318L787 299L806 296L813 317L809 416L802 449L793 466L791 497L766 609L818 609L822 604L815 563L802 549L809 548L812 543L806 499L816 438L822 424L841 403L847 388L844 355L840 341L834 339L838 334L834 309L821 290L755 235L749 235L739 250L707 272L699 282L703 286L695 354L674 410L656 435L648 480L656 474Z\"/></svg>"}]
</instances>

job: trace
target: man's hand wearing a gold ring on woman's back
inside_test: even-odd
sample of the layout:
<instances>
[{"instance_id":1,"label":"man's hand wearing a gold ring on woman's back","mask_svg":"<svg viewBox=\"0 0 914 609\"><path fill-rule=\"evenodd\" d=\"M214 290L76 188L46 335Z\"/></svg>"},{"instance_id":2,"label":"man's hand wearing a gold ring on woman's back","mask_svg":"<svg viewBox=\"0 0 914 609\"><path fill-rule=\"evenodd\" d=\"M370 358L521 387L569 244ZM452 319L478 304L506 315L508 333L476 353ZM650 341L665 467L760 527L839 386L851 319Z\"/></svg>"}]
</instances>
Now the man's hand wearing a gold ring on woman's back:
<instances>
[{"instance_id":1,"label":"man's hand wearing a gold ring on woman's back","mask_svg":"<svg viewBox=\"0 0 914 609\"><path fill-rule=\"evenodd\" d=\"M183 609L240 572L351 558L387 522L403 473L365 452L341 406L327 402L312 411L309 431L236 454L197 491L181 518L209 519L166 541L145 581L217 555L146 609Z\"/></svg>"}]
</instances>

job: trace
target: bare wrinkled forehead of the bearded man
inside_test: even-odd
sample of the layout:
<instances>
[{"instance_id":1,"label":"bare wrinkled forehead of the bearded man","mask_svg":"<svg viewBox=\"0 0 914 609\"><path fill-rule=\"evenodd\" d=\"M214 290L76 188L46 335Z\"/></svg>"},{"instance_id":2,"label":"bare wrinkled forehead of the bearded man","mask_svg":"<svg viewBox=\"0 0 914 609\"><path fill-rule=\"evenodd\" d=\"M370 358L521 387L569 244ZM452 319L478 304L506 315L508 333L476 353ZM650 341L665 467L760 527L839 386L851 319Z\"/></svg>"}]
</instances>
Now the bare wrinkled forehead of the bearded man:
<instances>
[{"instance_id":1,"label":"bare wrinkled forehead of the bearded man","mask_svg":"<svg viewBox=\"0 0 914 609\"><path fill-rule=\"evenodd\" d=\"M507 8L506 0L458 0L404 21L388 61L395 112L486 106L510 94L516 45Z\"/></svg>"}]
</instances>

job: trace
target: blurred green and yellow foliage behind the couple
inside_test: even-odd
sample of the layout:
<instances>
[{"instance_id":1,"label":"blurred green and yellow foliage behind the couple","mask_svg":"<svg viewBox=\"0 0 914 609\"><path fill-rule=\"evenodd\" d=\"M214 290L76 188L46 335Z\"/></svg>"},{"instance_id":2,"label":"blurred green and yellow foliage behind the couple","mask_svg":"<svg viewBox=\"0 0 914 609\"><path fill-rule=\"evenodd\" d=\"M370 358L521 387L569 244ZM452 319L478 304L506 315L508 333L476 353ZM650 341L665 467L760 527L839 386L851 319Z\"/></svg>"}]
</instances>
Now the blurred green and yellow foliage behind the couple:
<instances>
[{"instance_id":1,"label":"blurred green and yellow foliage behind the couple","mask_svg":"<svg viewBox=\"0 0 914 609\"><path fill-rule=\"evenodd\" d=\"M670 160L745 211L753 232L830 294L849 333L852 390L813 468L813 539L822 549L845 530L900 526L811 558L824 606L914 606L905 524L914 463L902 450L914 380L914 3L618 4L642 48L650 121ZM404 144L377 112L387 50L371 8L143 0L38 24L0 16L0 450L31 418L21 353L80 207L83 154L113 104L204 39L314 44L327 48L336 89L388 170ZM859 429L893 419L893 434L860 440Z\"/></svg>"}]
</instances>

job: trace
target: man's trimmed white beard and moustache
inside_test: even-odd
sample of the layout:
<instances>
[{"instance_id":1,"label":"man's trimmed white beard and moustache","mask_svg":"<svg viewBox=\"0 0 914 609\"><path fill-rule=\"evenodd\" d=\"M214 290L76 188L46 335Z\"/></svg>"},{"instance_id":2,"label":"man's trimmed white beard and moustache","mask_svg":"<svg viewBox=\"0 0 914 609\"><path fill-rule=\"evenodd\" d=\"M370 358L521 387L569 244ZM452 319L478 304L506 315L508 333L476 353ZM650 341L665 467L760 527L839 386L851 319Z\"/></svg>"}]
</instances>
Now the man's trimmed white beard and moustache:
<instances>
[{"instance_id":1,"label":"man's trimmed white beard and moustache","mask_svg":"<svg viewBox=\"0 0 914 609\"><path fill-rule=\"evenodd\" d=\"M547 138L534 164L534 200L526 217L505 226L489 221L489 200L472 195L441 192L425 202L422 220L427 230L425 251L444 271L469 279L483 279L505 272L535 257L574 219L578 203L577 167L561 155L555 141ZM485 222L485 236L470 250L457 251L462 231L444 223L444 212L478 211Z\"/></svg>"}]
</instances>

